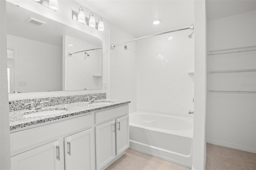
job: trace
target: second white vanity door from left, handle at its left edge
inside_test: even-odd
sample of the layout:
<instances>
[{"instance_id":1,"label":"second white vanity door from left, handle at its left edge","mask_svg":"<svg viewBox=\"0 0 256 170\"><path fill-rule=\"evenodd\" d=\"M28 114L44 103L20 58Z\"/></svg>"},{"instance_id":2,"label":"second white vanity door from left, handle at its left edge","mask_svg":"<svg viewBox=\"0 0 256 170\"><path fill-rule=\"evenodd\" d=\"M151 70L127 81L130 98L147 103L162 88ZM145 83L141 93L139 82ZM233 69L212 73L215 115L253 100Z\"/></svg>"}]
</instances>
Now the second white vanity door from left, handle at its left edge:
<instances>
[{"instance_id":1,"label":"second white vanity door from left, handle at its left edge","mask_svg":"<svg viewBox=\"0 0 256 170\"><path fill-rule=\"evenodd\" d=\"M92 128L64 138L65 170L95 169Z\"/></svg>"}]
</instances>

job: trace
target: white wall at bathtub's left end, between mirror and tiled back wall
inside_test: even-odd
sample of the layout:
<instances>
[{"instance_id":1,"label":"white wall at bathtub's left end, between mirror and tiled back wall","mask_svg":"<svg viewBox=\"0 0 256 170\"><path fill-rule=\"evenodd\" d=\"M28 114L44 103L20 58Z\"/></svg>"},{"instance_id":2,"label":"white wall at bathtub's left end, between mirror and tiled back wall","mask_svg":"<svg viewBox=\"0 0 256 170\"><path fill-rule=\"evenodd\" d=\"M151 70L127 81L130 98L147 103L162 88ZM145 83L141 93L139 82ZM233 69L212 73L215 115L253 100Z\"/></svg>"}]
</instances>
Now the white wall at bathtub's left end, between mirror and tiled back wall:
<instances>
[{"instance_id":1,"label":"white wall at bathtub's left end, between mirror and tiled back wall","mask_svg":"<svg viewBox=\"0 0 256 170\"><path fill-rule=\"evenodd\" d=\"M110 44L134 39L133 36L110 30ZM124 49L127 45L128 49ZM129 112L136 111L136 42L110 49L110 98L130 100Z\"/></svg>"}]
</instances>

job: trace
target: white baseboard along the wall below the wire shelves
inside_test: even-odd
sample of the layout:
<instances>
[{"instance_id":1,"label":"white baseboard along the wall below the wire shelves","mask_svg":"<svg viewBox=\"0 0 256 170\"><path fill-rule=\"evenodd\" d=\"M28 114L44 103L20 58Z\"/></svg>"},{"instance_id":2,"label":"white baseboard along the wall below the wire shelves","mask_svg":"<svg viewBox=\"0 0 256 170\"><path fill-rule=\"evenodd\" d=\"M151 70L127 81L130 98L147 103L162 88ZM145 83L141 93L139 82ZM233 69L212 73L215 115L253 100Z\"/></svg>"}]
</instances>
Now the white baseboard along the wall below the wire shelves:
<instances>
[{"instance_id":1,"label":"white baseboard along the wall below the wire shelves","mask_svg":"<svg viewBox=\"0 0 256 170\"><path fill-rule=\"evenodd\" d=\"M213 139L206 139L206 142L210 143L210 144L215 144L215 145L219 145L219 146L237 149L237 150L243 150L246 152L256 153L256 148L251 148L251 147L247 147L247 146L241 146L241 145L223 142L223 141L219 141L219 140L213 140Z\"/></svg>"}]
</instances>

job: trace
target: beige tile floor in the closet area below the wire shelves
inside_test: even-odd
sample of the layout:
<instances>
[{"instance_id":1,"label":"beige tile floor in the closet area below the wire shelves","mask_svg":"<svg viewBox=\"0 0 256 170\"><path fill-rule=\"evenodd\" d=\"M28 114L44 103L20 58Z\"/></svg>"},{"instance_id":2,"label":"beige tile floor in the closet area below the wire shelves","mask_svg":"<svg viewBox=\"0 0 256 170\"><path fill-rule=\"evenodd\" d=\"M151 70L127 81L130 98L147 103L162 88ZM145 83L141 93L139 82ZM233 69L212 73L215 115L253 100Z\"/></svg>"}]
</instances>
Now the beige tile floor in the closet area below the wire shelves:
<instances>
[{"instance_id":1,"label":"beige tile floor in the closet area below the wire shelves","mask_svg":"<svg viewBox=\"0 0 256 170\"><path fill-rule=\"evenodd\" d=\"M256 170L254 153L214 144L206 148L206 170Z\"/></svg>"}]
</instances>

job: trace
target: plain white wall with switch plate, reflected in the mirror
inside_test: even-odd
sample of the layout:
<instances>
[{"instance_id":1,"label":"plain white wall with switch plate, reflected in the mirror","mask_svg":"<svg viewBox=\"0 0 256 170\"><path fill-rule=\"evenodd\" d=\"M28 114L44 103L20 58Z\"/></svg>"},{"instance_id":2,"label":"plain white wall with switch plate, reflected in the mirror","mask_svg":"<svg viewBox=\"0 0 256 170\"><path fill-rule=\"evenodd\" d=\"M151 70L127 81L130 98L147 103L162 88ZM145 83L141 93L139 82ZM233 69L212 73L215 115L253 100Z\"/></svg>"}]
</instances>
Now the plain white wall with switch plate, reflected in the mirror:
<instances>
[{"instance_id":1,"label":"plain white wall with switch plate, reflected in the mirror","mask_svg":"<svg viewBox=\"0 0 256 170\"><path fill-rule=\"evenodd\" d=\"M60 91L62 89L62 46L7 35L7 47L14 58L15 92ZM47 53L47 55L46 55ZM18 82L26 82L19 86Z\"/></svg>"}]
</instances>

